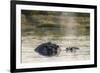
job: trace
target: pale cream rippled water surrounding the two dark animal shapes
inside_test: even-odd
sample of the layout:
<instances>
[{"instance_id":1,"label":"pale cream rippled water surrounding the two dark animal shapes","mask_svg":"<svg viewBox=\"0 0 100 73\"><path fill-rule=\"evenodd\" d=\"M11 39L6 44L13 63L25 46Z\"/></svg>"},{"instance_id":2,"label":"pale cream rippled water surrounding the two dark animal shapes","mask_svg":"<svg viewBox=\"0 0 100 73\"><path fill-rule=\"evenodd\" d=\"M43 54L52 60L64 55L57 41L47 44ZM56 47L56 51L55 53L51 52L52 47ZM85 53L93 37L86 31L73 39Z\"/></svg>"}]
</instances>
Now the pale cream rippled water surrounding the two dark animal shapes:
<instances>
[{"instance_id":1,"label":"pale cream rippled water surrounding the two dark animal shapes","mask_svg":"<svg viewBox=\"0 0 100 73\"><path fill-rule=\"evenodd\" d=\"M41 43L51 41L60 46L61 52L59 55L54 57L45 57L39 55L34 49ZM25 36L22 37L22 63L34 63L34 62L46 62L46 61L75 61L75 60L89 60L90 57L90 46L88 36L66 36L61 38L55 38L46 36L39 38L37 36ZM75 46L80 48L75 53L66 52L66 47Z\"/></svg>"}]
</instances>

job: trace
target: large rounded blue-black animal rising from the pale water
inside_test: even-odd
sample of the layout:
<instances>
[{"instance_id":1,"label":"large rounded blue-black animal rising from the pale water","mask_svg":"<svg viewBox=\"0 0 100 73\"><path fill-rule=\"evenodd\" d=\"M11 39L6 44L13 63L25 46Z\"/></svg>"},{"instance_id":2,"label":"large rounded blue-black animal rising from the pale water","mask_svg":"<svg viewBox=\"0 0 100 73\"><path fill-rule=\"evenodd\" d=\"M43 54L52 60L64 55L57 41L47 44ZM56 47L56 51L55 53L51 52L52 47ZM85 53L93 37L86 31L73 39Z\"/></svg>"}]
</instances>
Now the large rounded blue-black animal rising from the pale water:
<instances>
[{"instance_id":1,"label":"large rounded blue-black animal rising from the pale water","mask_svg":"<svg viewBox=\"0 0 100 73\"><path fill-rule=\"evenodd\" d=\"M59 46L51 42L42 43L35 51L43 56L55 56L59 53Z\"/></svg>"}]
</instances>

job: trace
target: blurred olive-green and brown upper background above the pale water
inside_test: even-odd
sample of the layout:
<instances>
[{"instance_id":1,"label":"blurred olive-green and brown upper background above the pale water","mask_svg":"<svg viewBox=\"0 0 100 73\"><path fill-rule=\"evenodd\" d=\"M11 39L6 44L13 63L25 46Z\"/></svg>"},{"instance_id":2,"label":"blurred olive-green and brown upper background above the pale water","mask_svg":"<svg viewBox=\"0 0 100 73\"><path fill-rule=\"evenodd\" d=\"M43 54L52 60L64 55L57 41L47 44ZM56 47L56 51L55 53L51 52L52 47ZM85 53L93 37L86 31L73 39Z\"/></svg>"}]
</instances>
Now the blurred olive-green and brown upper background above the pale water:
<instances>
[{"instance_id":1,"label":"blurred olive-green and brown upper background above the pale water","mask_svg":"<svg viewBox=\"0 0 100 73\"><path fill-rule=\"evenodd\" d=\"M66 29L77 30L75 35L90 34L90 14L56 11L21 11L22 35L64 36ZM68 31L70 32L70 31Z\"/></svg>"}]
</instances>

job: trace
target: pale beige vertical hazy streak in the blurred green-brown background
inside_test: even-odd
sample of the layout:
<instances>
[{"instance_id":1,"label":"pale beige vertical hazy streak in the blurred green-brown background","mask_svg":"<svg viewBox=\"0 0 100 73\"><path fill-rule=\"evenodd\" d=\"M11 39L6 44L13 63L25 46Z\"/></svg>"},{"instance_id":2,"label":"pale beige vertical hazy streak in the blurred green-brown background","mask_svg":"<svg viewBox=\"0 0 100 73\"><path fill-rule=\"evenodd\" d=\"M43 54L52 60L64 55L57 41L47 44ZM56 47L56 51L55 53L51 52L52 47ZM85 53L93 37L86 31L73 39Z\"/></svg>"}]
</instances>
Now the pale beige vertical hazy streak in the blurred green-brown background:
<instances>
[{"instance_id":1,"label":"pale beige vertical hazy streak in the blurred green-brown background","mask_svg":"<svg viewBox=\"0 0 100 73\"><path fill-rule=\"evenodd\" d=\"M79 23L76 21L75 17L76 15L74 13L62 13L62 17L65 17L61 19L61 22L64 24L65 32L67 36L76 36L78 33L77 26Z\"/></svg>"}]
</instances>

